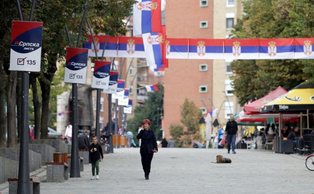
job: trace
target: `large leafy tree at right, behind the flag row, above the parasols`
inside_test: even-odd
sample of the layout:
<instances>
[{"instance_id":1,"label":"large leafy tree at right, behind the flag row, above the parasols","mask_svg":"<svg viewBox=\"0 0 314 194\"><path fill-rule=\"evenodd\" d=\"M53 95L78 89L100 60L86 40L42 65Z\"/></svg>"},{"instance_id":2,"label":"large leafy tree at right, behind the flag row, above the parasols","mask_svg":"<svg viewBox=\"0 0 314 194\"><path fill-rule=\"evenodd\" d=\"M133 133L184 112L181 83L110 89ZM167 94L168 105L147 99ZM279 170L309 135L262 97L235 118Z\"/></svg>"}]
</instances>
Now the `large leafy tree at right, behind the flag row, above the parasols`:
<instances>
[{"instance_id":1,"label":"large leafy tree at right, behind the flag row, above the parasols","mask_svg":"<svg viewBox=\"0 0 314 194\"><path fill-rule=\"evenodd\" d=\"M310 0L246 0L243 18L237 21L234 38L313 37L314 4ZM314 79L313 60L237 60L234 92L243 105L261 98L277 86L291 89ZM249 72L250 71L250 72Z\"/></svg>"}]
</instances>

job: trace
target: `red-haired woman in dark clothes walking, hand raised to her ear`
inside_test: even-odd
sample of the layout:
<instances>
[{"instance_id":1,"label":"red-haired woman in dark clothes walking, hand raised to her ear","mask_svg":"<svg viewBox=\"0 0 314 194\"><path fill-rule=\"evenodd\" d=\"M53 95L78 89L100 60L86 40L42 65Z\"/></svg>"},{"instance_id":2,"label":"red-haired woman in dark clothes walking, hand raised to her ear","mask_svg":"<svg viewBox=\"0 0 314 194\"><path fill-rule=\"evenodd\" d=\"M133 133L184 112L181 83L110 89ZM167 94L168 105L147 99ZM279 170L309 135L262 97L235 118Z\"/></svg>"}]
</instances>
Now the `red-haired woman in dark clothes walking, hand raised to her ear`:
<instances>
[{"instance_id":1,"label":"red-haired woman in dark clothes walking, hand raised to her ear","mask_svg":"<svg viewBox=\"0 0 314 194\"><path fill-rule=\"evenodd\" d=\"M143 128L136 136L137 139L141 139L140 153L142 158L142 166L145 173L145 179L149 179L149 173L151 172L151 163L154 153L157 153L157 141L154 131L149 128L151 121L148 119L143 120Z\"/></svg>"}]
</instances>

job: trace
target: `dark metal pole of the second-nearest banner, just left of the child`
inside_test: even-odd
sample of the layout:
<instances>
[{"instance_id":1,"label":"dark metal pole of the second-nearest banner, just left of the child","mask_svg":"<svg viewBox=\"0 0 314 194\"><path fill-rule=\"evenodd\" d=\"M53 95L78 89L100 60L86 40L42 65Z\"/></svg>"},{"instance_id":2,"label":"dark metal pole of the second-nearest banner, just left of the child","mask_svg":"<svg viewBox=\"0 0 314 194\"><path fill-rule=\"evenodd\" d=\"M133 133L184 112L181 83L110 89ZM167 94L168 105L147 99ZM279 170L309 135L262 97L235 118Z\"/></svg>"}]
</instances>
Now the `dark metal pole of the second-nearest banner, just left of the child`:
<instances>
[{"instance_id":1,"label":"dark metal pole of the second-nearest banner, just left of the child","mask_svg":"<svg viewBox=\"0 0 314 194\"><path fill-rule=\"evenodd\" d=\"M85 20L86 11L88 9L88 1L83 12L80 26L78 29L77 48L79 46L80 33ZM79 172L79 155L78 155L78 84L72 83L72 145L71 145L71 168L70 178L80 177Z\"/></svg>"}]
</instances>

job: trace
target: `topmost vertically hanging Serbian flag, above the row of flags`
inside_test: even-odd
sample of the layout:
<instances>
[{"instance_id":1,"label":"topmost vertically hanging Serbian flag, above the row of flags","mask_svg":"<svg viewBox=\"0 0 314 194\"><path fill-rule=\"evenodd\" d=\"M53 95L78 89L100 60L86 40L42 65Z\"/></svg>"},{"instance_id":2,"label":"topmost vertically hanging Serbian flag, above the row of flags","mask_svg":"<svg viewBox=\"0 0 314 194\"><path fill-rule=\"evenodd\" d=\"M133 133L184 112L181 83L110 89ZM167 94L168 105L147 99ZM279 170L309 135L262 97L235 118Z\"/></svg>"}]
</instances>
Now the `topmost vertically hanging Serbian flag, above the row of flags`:
<instances>
[{"instance_id":1,"label":"topmost vertically hanging Serbian flag, above the row of flags","mask_svg":"<svg viewBox=\"0 0 314 194\"><path fill-rule=\"evenodd\" d=\"M161 32L161 0L138 0L133 5L133 35Z\"/></svg>"}]
</instances>

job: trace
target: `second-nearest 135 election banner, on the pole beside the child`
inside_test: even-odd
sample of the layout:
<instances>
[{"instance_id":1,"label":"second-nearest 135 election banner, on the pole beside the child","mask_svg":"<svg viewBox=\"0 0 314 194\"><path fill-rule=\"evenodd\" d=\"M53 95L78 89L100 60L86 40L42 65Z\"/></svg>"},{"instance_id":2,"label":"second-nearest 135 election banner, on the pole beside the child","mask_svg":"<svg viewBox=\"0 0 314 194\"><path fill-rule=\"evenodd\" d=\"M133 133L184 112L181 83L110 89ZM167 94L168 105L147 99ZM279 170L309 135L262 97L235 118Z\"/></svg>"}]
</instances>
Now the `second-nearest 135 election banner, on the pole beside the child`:
<instances>
[{"instance_id":1,"label":"second-nearest 135 election banner, on the pole beside the child","mask_svg":"<svg viewBox=\"0 0 314 194\"><path fill-rule=\"evenodd\" d=\"M67 55L65 62L65 83L81 83L86 82L88 49L67 47Z\"/></svg>"}]
</instances>

